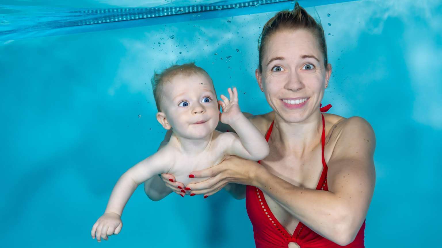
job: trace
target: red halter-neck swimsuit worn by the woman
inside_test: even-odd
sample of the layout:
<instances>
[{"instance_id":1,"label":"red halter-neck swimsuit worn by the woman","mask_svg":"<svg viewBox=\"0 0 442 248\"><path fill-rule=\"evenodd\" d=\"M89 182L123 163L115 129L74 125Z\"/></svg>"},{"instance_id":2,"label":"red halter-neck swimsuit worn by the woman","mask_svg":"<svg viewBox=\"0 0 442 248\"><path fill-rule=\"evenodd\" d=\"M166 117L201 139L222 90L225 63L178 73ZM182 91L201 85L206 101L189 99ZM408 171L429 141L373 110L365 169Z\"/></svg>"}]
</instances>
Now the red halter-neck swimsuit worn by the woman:
<instances>
[{"instance_id":1,"label":"red halter-neck swimsuit worn by the woman","mask_svg":"<svg viewBox=\"0 0 442 248\"><path fill-rule=\"evenodd\" d=\"M321 108L321 112L327 112L331 105ZM322 115L322 114L321 114ZM272 132L273 122L267 131L266 140L269 141ZM323 170L318 182L316 190L328 191L327 185L327 164L324 159L324 144L325 144L325 122L324 115L322 115L322 165ZM255 244L257 248L287 248L290 242L297 243L301 248L335 248L343 247L332 241L315 233L309 227L299 222L293 235L290 235L286 229L278 222L272 214L270 208L267 206L266 199L263 192L254 186L247 186L246 189L246 208L253 225L253 233L255 237ZM365 221L359 229L358 235L353 242L345 247L348 248L363 248L364 247L364 229Z\"/></svg>"}]
</instances>

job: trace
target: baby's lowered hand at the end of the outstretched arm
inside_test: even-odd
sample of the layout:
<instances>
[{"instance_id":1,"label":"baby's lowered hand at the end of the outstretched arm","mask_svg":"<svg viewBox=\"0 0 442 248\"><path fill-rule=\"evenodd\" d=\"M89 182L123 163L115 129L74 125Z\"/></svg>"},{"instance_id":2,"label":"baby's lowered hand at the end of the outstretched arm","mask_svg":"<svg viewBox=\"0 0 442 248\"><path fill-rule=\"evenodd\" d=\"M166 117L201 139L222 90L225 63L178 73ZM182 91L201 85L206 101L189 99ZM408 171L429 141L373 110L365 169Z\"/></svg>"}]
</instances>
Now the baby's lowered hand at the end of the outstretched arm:
<instances>
[{"instance_id":1,"label":"baby's lowered hand at the end of the outstretched arm","mask_svg":"<svg viewBox=\"0 0 442 248\"><path fill-rule=\"evenodd\" d=\"M91 235L94 239L96 233L97 241L101 242L101 238L107 240L107 236L118 234L122 227L123 222L121 222L120 215L109 212L104 213L97 222L95 222L94 226L92 226Z\"/></svg>"}]
</instances>

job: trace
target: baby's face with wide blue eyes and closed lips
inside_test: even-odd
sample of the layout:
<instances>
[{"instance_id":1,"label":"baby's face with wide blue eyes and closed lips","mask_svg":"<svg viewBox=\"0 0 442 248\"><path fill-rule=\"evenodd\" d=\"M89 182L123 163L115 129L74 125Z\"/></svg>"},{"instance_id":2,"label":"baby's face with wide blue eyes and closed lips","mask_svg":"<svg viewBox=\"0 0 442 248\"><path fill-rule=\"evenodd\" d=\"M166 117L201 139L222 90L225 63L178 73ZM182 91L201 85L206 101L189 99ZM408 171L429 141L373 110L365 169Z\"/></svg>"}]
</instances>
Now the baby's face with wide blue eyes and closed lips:
<instances>
[{"instance_id":1,"label":"baby's face with wide blue eyes and closed lips","mask_svg":"<svg viewBox=\"0 0 442 248\"><path fill-rule=\"evenodd\" d=\"M161 109L176 135L202 139L217 127L220 112L208 75L176 75L162 93Z\"/></svg>"}]
</instances>

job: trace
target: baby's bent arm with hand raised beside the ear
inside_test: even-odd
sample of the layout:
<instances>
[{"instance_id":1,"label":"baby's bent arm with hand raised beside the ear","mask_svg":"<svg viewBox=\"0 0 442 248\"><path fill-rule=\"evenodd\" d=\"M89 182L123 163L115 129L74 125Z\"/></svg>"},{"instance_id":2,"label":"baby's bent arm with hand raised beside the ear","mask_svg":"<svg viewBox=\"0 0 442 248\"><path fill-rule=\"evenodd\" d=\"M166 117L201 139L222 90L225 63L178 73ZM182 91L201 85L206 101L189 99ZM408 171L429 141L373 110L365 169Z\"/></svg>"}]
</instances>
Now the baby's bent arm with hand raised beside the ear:
<instances>
[{"instance_id":1,"label":"baby's bent arm with hand raised beside the ear","mask_svg":"<svg viewBox=\"0 0 442 248\"><path fill-rule=\"evenodd\" d=\"M269 146L258 128L240 112L238 105L238 93L229 88L230 100L221 95L223 101L219 101L223 113L221 121L229 124L236 132L221 134L227 141L226 153L236 155L249 160L261 160L269 154Z\"/></svg>"}]
</instances>

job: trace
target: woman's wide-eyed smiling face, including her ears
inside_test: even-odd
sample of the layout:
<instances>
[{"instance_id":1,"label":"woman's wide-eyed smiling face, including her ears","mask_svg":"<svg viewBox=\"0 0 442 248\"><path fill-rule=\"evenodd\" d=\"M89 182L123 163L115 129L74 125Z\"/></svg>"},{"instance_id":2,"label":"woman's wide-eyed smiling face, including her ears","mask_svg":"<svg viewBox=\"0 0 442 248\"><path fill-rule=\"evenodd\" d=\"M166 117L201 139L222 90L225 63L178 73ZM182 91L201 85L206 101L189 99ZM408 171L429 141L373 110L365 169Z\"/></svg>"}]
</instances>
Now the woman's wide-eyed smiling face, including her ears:
<instances>
[{"instance_id":1,"label":"woman's wide-eyed smiling face, including her ears","mask_svg":"<svg viewBox=\"0 0 442 248\"><path fill-rule=\"evenodd\" d=\"M256 79L275 113L289 123L318 111L331 65L324 68L318 42L307 30L281 30L267 40Z\"/></svg>"}]
</instances>

